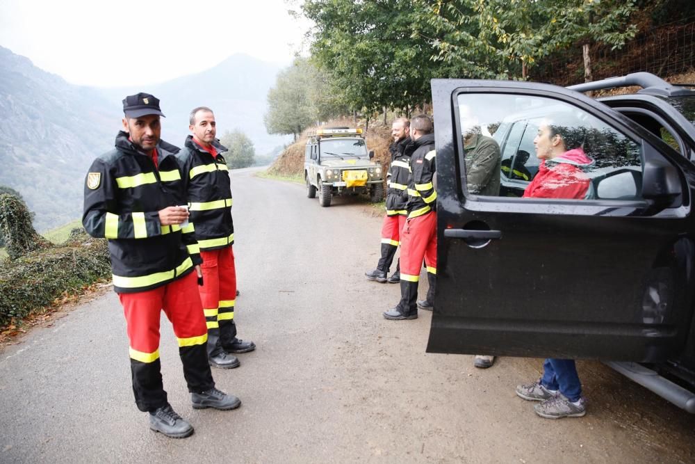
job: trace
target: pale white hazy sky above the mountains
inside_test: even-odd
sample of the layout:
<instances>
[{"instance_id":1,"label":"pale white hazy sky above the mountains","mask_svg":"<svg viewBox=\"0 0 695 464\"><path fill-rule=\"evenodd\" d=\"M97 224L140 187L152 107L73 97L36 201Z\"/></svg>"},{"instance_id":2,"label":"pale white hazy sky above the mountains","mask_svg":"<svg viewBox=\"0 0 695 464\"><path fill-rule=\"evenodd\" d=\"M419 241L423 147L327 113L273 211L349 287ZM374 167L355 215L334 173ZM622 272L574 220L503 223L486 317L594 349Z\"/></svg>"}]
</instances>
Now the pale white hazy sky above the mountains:
<instances>
[{"instance_id":1,"label":"pale white hazy sky above the mountains","mask_svg":"<svg viewBox=\"0 0 695 464\"><path fill-rule=\"evenodd\" d=\"M0 0L0 45L76 84L167 81L245 53L288 65L298 0Z\"/></svg>"}]
</instances>

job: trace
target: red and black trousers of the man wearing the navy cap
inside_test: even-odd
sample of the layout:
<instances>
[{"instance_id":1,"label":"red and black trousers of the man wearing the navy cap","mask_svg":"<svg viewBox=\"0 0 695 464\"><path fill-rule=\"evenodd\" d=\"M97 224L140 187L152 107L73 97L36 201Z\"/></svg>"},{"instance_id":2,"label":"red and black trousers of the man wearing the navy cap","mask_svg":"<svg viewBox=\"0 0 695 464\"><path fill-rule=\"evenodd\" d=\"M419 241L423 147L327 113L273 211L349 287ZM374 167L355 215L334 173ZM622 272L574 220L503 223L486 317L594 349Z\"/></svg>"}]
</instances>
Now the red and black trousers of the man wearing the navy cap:
<instances>
[{"instance_id":1,"label":"red and black trousers of the man wearing the navy cap","mask_svg":"<svg viewBox=\"0 0 695 464\"><path fill-rule=\"evenodd\" d=\"M162 310L171 321L179 342L188 391L204 392L215 386L205 351L205 319L196 287L193 271L156 289L118 295L130 340L133 394L142 411L154 411L167 404L159 360Z\"/></svg>"}]
</instances>

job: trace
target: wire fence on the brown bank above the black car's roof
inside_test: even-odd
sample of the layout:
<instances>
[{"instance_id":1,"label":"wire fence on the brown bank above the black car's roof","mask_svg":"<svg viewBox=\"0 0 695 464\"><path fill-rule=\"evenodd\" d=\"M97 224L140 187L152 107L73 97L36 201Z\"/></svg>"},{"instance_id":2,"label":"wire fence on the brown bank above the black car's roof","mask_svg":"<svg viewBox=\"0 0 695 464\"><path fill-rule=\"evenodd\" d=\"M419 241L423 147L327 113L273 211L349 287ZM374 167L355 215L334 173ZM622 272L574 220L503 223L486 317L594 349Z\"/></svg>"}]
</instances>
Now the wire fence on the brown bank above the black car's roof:
<instances>
[{"instance_id":1,"label":"wire fence on the brown bank above the black car's roof","mask_svg":"<svg viewBox=\"0 0 695 464\"><path fill-rule=\"evenodd\" d=\"M639 33L619 50L597 46L591 48L594 81L646 71L659 77L670 77L695 70L695 18L690 22L664 24ZM567 51L562 58L532 68L530 79L569 86L584 81L584 59L580 46ZM695 79L694 79L695 80Z\"/></svg>"}]
</instances>

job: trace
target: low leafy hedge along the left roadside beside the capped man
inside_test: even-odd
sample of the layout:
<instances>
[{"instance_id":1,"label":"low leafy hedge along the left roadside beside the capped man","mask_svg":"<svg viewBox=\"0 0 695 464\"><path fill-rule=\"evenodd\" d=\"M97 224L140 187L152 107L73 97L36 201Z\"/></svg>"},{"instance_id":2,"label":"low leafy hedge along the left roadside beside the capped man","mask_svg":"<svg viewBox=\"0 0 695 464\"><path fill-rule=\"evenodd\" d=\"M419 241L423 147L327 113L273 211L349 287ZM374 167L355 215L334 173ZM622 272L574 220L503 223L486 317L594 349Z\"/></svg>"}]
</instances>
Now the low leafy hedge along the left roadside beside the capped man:
<instances>
[{"instance_id":1,"label":"low leafy hedge along the left roadside beside the capped man","mask_svg":"<svg viewBox=\"0 0 695 464\"><path fill-rule=\"evenodd\" d=\"M0 327L110 276L106 240L75 229L60 248L36 250L0 266Z\"/></svg>"}]
</instances>

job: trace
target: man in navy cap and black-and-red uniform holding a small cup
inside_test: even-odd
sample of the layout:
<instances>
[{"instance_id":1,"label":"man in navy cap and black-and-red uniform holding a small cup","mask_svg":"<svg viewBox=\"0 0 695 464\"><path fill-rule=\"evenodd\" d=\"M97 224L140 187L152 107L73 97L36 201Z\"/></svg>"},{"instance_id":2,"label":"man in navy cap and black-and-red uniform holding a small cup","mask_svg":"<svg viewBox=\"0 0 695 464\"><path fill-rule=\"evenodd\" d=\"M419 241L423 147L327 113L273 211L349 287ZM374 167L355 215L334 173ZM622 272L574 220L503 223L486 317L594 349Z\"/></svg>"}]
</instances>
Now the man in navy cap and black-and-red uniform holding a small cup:
<instances>
[{"instance_id":1,"label":"man in navy cap and black-and-red uniform holding a small cup","mask_svg":"<svg viewBox=\"0 0 695 464\"><path fill-rule=\"evenodd\" d=\"M201 263L181 190L174 145L160 140L159 100L147 93L123 100L123 130L115 148L98 157L85 179L82 223L108 239L113 287L126 318L133 393L149 426L173 438L193 433L164 391L159 360L161 310L179 342L193 408L238 408L215 388L205 350L207 333L197 290Z\"/></svg>"}]
</instances>

